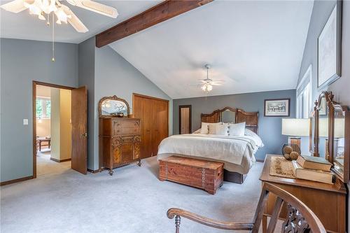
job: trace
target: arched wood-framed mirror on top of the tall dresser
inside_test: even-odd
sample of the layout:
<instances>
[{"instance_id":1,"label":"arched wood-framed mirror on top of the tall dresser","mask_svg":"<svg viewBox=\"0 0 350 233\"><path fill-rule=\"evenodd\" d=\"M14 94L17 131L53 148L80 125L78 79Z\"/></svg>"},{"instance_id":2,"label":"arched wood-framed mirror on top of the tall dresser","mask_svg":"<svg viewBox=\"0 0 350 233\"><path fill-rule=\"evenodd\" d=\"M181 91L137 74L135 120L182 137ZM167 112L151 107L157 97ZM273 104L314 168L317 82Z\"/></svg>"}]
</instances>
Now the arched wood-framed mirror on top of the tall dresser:
<instances>
[{"instance_id":1,"label":"arched wood-framed mirror on top of the tall dresser","mask_svg":"<svg viewBox=\"0 0 350 233\"><path fill-rule=\"evenodd\" d=\"M123 118L130 115L129 104L116 96L104 97L99 101L100 118Z\"/></svg>"}]
</instances>

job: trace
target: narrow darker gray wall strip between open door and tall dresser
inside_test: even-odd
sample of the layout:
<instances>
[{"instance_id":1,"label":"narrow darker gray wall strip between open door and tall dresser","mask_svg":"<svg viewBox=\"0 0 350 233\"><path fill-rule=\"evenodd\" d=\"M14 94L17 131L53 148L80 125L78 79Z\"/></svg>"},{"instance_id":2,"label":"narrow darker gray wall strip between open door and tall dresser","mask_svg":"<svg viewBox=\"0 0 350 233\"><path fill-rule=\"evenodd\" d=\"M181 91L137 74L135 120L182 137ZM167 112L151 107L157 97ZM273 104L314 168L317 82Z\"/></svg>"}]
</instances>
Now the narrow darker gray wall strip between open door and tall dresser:
<instances>
[{"instance_id":1,"label":"narrow darker gray wall strip between open door and tall dresser","mask_svg":"<svg viewBox=\"0 0 350 233\"><path fill-rule=\"evenodd\" d=\"M79 44L78 85L87 87L87 167L94 168L94 37ZM97 131L98 135L98 131Z\"/></svg>"}]
</instances>

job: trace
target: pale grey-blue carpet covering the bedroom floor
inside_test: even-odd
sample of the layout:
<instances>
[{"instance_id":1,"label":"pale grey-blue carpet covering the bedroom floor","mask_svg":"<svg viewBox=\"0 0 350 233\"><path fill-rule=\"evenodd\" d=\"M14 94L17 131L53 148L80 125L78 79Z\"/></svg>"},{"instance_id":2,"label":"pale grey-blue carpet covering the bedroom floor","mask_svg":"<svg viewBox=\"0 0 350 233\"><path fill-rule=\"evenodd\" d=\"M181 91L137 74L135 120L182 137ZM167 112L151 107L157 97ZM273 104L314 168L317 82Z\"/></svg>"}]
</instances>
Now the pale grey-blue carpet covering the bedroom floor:
<instances>
[{"instance_id":1,"label":"pale grey-blue carpet covering the bedroom floor","mask_svg":"<svg viewBox=\"0 0 350 233\"><path fill-rule=\"evenodd\" d=\"M216 195L158 181L156 157L83 176L68 170L1 187L1 232L174 232L167 209L179 207L219 220L250 221L261 190L257 162L242 185L224 183ZM180 232L228 232L183 219Z\"/></svg>"}]
</instances>

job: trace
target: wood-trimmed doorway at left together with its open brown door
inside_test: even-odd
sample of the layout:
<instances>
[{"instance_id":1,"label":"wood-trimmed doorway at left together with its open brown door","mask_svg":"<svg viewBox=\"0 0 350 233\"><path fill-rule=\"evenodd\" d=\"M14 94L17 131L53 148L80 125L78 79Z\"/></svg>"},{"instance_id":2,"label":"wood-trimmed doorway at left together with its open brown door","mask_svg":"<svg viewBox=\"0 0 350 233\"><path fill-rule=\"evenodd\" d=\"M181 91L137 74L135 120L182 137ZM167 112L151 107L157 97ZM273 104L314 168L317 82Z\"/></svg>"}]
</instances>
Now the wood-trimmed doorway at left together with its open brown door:
<instances>
[{"instance_id":1,"label":"wood-trimmed doorway at left together with its open brown door","mask_svg":"<svg viewBox=\"0 0 350 233\"><path fill-rule=\"evenodd\" d=\"M33 81L33 176L87 171L87 90Z\"/></svg>"}]
</instances>

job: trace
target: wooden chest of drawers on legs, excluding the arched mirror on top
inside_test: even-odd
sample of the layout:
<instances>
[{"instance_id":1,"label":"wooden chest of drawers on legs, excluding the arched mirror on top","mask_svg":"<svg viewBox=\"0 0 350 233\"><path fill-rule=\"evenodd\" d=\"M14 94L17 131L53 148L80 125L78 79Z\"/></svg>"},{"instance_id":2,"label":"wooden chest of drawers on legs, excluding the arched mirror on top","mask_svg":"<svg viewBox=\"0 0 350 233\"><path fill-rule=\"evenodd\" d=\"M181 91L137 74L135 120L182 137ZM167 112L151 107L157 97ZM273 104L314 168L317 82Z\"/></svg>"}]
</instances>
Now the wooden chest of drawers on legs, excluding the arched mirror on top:
<instances>
[{"instance_id":1,"label":"wooden chest of drawers on legs, excluding the arched mirror on top","mask_svg":"<svg viewBox=\"0 0 350 233\"><path fill-rule=\"evenodd\" d=\"M100 118L99 153L102 154L102 167L113 169L132 162L140 161L140 119L137 118Z\"/></svg>"}]
</instances>

